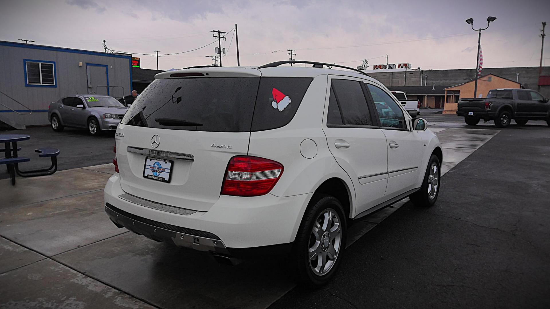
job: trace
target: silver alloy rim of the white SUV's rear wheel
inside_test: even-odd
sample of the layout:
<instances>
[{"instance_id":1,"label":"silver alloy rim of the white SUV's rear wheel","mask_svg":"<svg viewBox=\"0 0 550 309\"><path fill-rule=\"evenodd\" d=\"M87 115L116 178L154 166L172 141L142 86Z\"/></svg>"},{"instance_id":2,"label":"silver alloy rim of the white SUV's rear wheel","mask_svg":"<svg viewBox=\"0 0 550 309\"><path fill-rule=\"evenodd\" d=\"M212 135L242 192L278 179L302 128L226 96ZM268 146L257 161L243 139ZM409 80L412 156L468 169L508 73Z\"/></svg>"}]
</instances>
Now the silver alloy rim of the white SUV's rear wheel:
<instances>
[{"instance_id":1,"label":"silver alloy rim of the white SUV's rear wheel","mask_svg":"<svg viewBox=\"0 0 550 309\"><path fill-rule=\"evenodd\" d=\"M342 247L342 228L340 217L332 208L319 214L309 241L309 264L316 275L328 273L334 266L340 247Z\"/></svg>"}]
</instances>

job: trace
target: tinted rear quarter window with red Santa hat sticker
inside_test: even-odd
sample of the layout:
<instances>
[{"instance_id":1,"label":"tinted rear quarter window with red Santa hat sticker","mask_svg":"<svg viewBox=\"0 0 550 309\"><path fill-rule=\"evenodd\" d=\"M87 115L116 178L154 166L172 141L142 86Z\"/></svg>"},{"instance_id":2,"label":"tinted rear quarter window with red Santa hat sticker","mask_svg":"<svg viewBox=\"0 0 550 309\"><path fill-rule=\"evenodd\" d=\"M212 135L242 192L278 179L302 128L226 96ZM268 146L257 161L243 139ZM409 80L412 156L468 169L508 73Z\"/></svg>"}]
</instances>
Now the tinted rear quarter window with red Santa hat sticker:
<instances>
[{"instance_id":1,"label":"tinted rear quarter window with red Santa hat sticker","mask_svg":"<svg viewBox=\"0 0 550 309\"><path fill-rule=\"evenodd\" d=\"M287 125L298 111L312 80L262 77L251 131L271 130Z\"/></svg>"}]
</instances>

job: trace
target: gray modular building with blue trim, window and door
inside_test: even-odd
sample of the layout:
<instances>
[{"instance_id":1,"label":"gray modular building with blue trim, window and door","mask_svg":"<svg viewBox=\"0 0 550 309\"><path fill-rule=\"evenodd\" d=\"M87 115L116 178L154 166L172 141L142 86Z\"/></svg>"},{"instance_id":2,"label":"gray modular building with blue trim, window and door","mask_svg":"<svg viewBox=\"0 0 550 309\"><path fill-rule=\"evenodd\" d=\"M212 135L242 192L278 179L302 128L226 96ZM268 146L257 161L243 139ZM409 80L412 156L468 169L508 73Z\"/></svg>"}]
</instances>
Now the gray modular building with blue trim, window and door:
<instances>
[{"instance_id":1,"label":"gray modular building with blue trim, window and door","mask_svg":"<svg viewBox=\"0 0 550 309\"><path fill-rule=\"evenodd\" d=\"M48 106L76 93L129 95L131 55L0 41L0 126L48 124Z\"/></svg>"}]
</instances>

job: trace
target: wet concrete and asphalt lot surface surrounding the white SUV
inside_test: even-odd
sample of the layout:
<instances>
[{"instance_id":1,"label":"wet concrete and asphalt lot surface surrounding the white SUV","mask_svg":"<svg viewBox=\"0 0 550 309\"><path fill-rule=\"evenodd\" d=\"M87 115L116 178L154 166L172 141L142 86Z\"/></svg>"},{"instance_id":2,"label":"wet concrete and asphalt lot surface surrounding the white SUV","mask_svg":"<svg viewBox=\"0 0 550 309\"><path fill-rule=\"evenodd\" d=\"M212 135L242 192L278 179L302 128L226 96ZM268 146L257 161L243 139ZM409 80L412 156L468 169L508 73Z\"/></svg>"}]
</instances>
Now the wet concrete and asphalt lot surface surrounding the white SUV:
<instances>
[{"instance_id":1,"label":"wet concrete and asphalt lot surface surrounding the white SUV","mask_svg":"<svg viewBox=\"0 0 550 309\"><path fill-rule=\"evenodd\" d=\"M318 290L296 287L281 260L222 266L116 228L102 199L113 166L89 167L111 162L112 136L55 133L52 143L67 134L74 147L90 138L105 149L14 187L0 180L0 307L550 306L550 128L420 117L444 148L436 205L405 199L357 220L339 273Z\"/></svg>"}]
</instances>

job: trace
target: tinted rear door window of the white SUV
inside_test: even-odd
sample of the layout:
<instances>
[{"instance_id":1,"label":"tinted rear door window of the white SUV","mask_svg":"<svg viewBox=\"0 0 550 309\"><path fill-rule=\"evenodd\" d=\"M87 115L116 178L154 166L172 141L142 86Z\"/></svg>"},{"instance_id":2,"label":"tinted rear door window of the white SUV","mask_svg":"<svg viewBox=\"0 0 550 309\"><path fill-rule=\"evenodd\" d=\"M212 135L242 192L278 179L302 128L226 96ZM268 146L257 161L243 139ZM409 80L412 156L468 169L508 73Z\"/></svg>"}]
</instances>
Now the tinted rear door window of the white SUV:
<instances>
[{"instance_id":1,"label":"tinted rear door window of the white SUV","mask_svg":"<svg viewBox=\"0 0 550 309\"><path fill-rule=\"evenodd\" d=\"M365 93L359 81L331 81L327 124L372 125Z\"/></svg>"}]
</instances>

